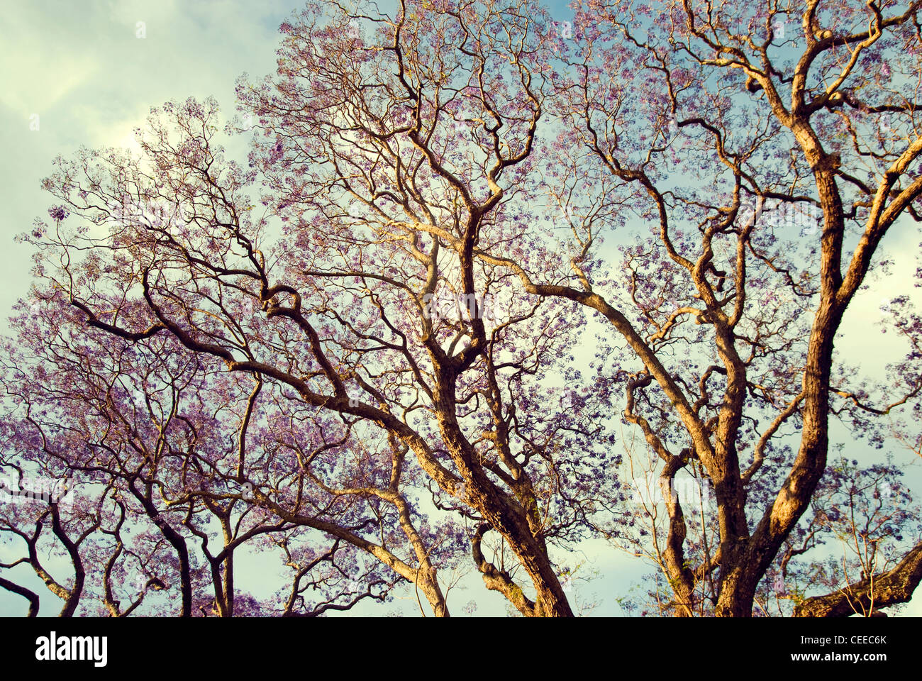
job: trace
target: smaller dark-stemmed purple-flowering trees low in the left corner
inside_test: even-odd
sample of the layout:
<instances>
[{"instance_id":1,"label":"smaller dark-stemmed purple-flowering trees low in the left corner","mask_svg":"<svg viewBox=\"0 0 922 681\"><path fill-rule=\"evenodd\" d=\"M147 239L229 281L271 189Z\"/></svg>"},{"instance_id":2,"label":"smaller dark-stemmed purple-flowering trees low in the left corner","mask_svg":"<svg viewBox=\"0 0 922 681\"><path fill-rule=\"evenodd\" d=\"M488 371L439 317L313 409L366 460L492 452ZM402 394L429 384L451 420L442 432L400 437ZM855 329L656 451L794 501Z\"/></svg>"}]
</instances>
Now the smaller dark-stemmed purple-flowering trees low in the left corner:
<instances>
[{"instance_id":1,"label":"smaller dark-stemmed purple-flowering trees low in the left corner","mask_svg":"<svg viewBox=\"0 0 922 681\"><path fill-rule=\"evenodd\" d=\"M0 465L14 473L11 488L66 480L68 494L18 495L3 505L0 532L26 549L3 567L29 564L65 600L65 616L319 615L388 597L393 579L375 572L377 561L369 565L335 538L305 541L304 522L236 498L250 496L239 491L239 467L251 488L289 486L269 466L285 432L257 430L253 392L238 394L240 385L165 337L113 345L63 302L40 299L18 316L17 342L6 342L6 404L18 418L6 420ZM312 502L321 510L311 520L356 530L348 505ZM74 572L67 585L42 565L49 525ZM235 587L234 559L276 546L294 572L290 593L259 603ZM37 594L21 595L37 611Z\"/></svg>"}]
</instances>

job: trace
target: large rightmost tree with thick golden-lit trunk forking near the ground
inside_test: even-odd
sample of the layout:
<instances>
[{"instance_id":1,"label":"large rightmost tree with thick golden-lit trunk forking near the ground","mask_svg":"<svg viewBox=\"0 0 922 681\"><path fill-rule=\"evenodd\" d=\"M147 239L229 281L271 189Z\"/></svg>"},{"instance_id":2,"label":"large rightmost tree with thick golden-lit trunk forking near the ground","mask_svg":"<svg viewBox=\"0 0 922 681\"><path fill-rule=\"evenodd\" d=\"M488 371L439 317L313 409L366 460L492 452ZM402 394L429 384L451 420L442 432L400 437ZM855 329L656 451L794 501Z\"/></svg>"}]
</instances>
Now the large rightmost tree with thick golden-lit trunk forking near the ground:
<instances>
[{"instance_id":1,"label":"large rightmost tree with thick golden-lit trunk forking near the ground","mask_svg":"<svg viewBox=\"0 0 922 681\"><path fill-rule=\"evenodd\" d=\"M655 235L623 249L620 289L578 267L579 286L520 276L526 291L596 310L628 343L628 362L613 360L641 364L621 383L625 418L661 460L664 487L683 469L713 485L714 540L689 554L681 504L664 493L658 554L678 614L710 602L717 615L750 615L827 470L831 415L869 436L857 412L891 412L919 391L917 370L895 376L874 406L833 353L881 239L919 219L918 8L578 7L583 40L573 78L561 78L568 146L581 151L573 193L630 202ZM583 205L592 217L595 204ZM579 262L598 228L575 226ZM881 606L916 588L917 548Z\"/></svg>"}]
</instances>

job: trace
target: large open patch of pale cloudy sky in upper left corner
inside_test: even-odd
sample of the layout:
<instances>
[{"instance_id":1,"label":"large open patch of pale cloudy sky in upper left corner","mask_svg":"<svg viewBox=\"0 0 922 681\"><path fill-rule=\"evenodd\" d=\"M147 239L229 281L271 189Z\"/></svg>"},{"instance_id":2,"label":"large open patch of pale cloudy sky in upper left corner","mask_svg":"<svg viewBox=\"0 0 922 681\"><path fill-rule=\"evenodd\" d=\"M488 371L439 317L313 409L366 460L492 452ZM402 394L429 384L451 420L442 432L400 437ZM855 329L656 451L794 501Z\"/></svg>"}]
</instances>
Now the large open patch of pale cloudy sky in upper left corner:
<instances>
[{"instance_id":1,"label":"large open patch of pale cloudy sky in upper left corner","mask_svg":"<svg viewBox=\"0 0 922 681\"><path fill-rule=\"evenodd\" d=\"M234 81L275 67L278 24L296 5L258 3L8 3L0 20L0 309L25 293L25 232L49 198L41 178L81 145L130 146L152 106L214 96L234 110ZM23 285L14 285L21 282Z\"/></svg>"}]
</instances>

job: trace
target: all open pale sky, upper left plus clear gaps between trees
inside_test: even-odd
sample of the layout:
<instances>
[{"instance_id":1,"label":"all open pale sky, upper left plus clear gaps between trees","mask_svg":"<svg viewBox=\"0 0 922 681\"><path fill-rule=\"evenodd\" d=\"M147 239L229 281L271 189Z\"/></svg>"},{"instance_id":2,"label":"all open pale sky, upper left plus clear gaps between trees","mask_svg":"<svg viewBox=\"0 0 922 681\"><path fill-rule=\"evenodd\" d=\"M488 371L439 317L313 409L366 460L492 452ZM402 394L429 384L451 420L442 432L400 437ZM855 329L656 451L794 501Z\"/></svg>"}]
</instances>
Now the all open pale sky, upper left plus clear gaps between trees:
<instances>
[{"instance_id":1,"label":"all open pale sky, upper left plus clear gaps between trees","mask_svg":"<svg viewBox=\"0 0 922 681\"><path fill-rule=\"evenodd\" d=\"M235 80L244 72L260 78L274 71L278 25L298 7L295 0L5 4L0 19L0 149L6 161L0 164L0 315L6 317L28 292L30 250L14 237L29 230L51 204L41 178L51 173L53 158L80 146L130 147L132 130L143 125L152 106L168 100L213 96L230 117ZM551 10L559 20L572 16L560 2ZM243 148L229 149L230 158L242 160L243 154ZM884 246L895 258L893 276L875 282L845 317L837 347L869 371L881 371L895 347L896 339L881 336L872 325L881 316L881 301L905 293L904 282L916 271L917 241L915 233L888 236ZM600 577L576 587L577 607L599 599L593 614L621 614L615 597L630 591L646 566L601 542L585 544L582 553L585 571ZM245 563L243 571L251 574L264 567L258 560ZM502 598L484 590L476 576L464 584L467 589L449 599L453 612L470 599L477 600L479 615L505 612ZM42 615L52 615L59 603L39 588ZM0 591L0 615L18 615L22 607L17 596ZM407 598L376 607L383 611L366 612L412 613L416 603ZM905 614L922 615L922 599Z\"/></svg>"}]
</instances>

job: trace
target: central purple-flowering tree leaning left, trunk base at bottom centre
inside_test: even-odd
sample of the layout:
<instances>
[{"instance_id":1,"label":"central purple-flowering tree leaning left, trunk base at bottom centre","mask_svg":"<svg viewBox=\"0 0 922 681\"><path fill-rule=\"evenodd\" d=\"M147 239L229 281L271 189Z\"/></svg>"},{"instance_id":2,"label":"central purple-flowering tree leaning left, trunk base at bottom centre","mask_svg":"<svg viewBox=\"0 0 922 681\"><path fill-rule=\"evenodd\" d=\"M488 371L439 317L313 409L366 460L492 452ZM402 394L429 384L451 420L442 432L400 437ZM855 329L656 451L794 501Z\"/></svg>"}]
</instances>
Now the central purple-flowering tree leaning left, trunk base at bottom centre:
<instances>
[{"instance_id":1,"label":"central purple-flowering tree leaning left, trunk base at bottom centre","mask_svg":"<svg viewBox=\"0 0 922 681\"><path fill-rule=\"evenodd\" d=\"M513 31L527 23L514 11L491 12L483 20L496 18ZM447 43L469 29L456 19L453 30L455 35L441 40ZM344 54L341 42L348 32L330 26L314 35L325 36L327 54ZM401 53L398 46L398 60ZM504 146L518 146L514 137L534 134L537 100L525 70L520 79L520 101L505 115L513 120L524 113L533 120L524 127L515 123ZM484 106L490 105L486 92L492 80L479 89ZM331 118L345 115L330 102L326 106ZM472 252L486 221L497 226L491 238L517 238L514 224L492 214L502 199L499 173L525 159L527 149L496 149L487 181L493 188L484 199L440 180L441 166L421 143L412 153L401 150L395 162L408 163L413 177L399 191L404 201L419 197L414 210L428 215L433 233L395 223L373 201L362 205L361 196L349 197L349 187L334 170L331 179L318 176L314 185L304 174L298 191L305 197L315 192L313 224L292 208L281 216L287 226L278 234L266 217L254 217L248 189L256 171L224 161L213 143L216 114L214 102L168 103L152 115L148 133L139 140L143 160L112 150L84 150L73 161L60 160L46 183L62 201L51 211L54 227L37 228L39 236L31 237L41 242L45 256L64 257L60 266L40 266L48 274L41 294L63 296L73 305L72 324L85 321L120 341L119 348L169 338L170 349L152 348L152 356L182 348L178 358L186 353L199 358L194 368L202 363L210 373L217 362L231 375L254 381L246 411L231 419L240 424L234 426L240 459L254 448L270 449L267 468L278 466L283 476L297 478L297 490L254 478L249 460L219 470L219 455L227 453L218 444L199 442L197 427L186 424L189 417L173 417L177 408L167 405L158 412L171 414L183 438L174 448L184 452L175 463L179 470L167 474L191 495L178 492L171 503L188 503L186 512L193 513L199 499L203 504L209 498L242 499L240 493L207 490L201 475L191 481L190 491L189 457L206 456L207 464L195 466L207 472L205 477L251 484L254 504L279 523L313 527L376 557L413 582L437 615L448 611L433 556L452 555L450 549L464 536L456 523L467 520L473 523L467 532L470 556L489 588L526 615L571 615L549 544L568 542L585 527L584 507L604 480L591 472L602 460L601 428L584 427L594 415L588 406L578 423L542 418L536 405L554 389L547 376L575 341L569 321L539 300L518 301L494 314L493 292L509 275L479 265ZM406 117L406 112L397 115ZM431 122L442 125L440 115L436 105ZM302 142L317 145L317 153L326 143L324 137ZM257 149L254 165L263 153L263 166L278 161L279 143ZM356 173L362 164L371 168L372 161L366 161L371 153L353 145L334 160ZM420 170L423 163L428 170ZM271 180L272 174L266 177ZM394 191L388 192L391 200L401 200ZM295 200L263 197L273 212ZM69 227L79 219L86 222ZM174 380L160 376L136 394ZM195 398L196 411L210 414L217 412L213 400L222 405L240 399L233 394L236 385L203 385L196 396L205 390L207 398ZM250 443L247 424L256 412L265 420L266 443ZM211 425L212 431L217 428ZM207 455L199 452L203 447ZM357 459L355 469L343 470L345 457ZM262 460L258 456L255 462ZM361 515L349 517L346 527L316 519L303 510L308 501L301 485L332 497L326 504L359 498ZM425 516L409 496L422 491L431 493L437 508L455 514L444 528L432 522L430 536L417 530L415 523ZM330 512L308 498L310 506ZM225 512L211 510L219 518ZM353 512L360 511L350 506ZM411 547L407 561L390 548L396 528ZM489 532L502 541L500 565L488 557ZM381 536L372 541L369 535ZM182 539L171 537L184 574L191 568L184 566ZM512 563L502 556L506 551L514 556ZM226 552L221 556L229 558ZM219 567L212 570L217 586ZM518 572L531 582L533 595L516 583ZM183 614L191 607L188 591L183 591Z\"/></svg>"}]
</instances>

